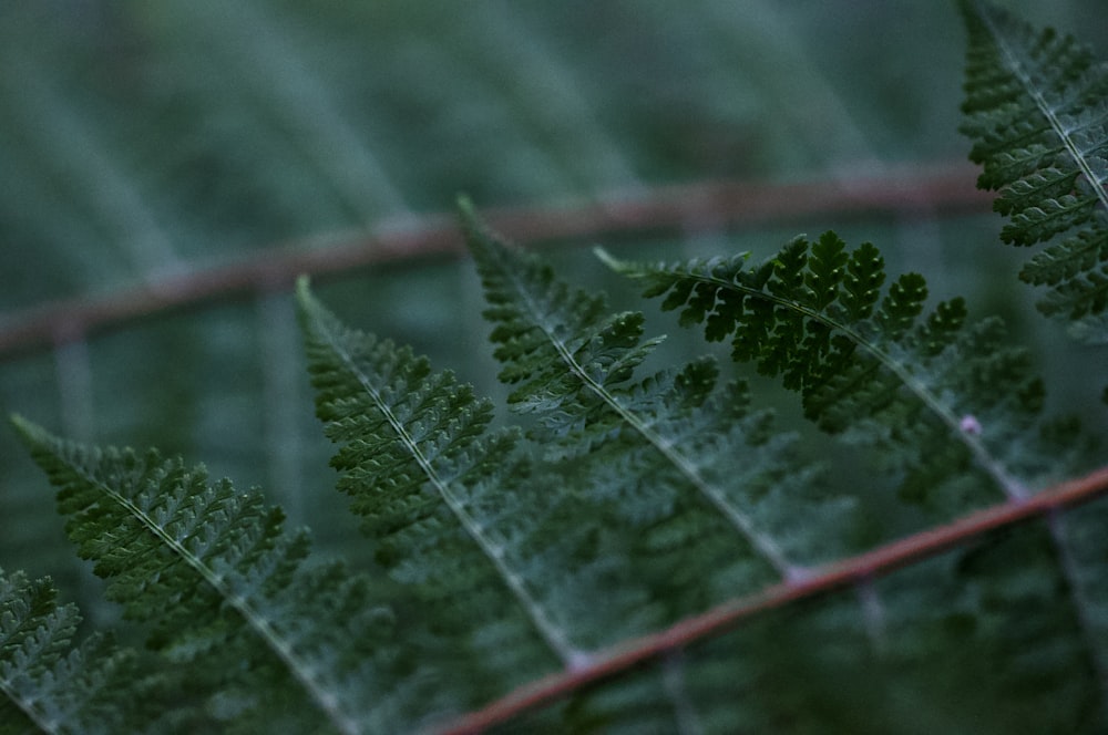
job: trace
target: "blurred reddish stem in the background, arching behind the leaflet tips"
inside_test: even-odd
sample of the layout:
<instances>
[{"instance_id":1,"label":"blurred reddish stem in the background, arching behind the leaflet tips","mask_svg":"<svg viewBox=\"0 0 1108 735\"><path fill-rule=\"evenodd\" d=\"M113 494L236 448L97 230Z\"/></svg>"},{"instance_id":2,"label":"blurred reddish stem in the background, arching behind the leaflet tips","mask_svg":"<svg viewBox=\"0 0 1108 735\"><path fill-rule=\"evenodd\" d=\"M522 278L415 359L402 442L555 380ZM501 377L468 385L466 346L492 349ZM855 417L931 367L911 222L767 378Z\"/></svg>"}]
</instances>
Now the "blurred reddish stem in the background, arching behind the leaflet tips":
<instances>
[{"instance_id":1,"label":"blurred reddish stem in the background, arching behind the leaflet tips","mask_svg":"<svg viewBox=\"0 0 1108 735\"><path fill-rule=\"evenodd\" d=\"M749 226L814 216L932 216L982 211L993 197L974 188L968 164L792 184L717 182L625 193L565 206L483 211L521 242L604 235ZM100 298L79 298L9 314L0 322L0 356L58 344L167 309L288 288L300 273L328 276L421 256L459 252L454 218L429 215L357 232L335 246L269 248L239 263L167 277Z\"/></svg>"}]
</instances>

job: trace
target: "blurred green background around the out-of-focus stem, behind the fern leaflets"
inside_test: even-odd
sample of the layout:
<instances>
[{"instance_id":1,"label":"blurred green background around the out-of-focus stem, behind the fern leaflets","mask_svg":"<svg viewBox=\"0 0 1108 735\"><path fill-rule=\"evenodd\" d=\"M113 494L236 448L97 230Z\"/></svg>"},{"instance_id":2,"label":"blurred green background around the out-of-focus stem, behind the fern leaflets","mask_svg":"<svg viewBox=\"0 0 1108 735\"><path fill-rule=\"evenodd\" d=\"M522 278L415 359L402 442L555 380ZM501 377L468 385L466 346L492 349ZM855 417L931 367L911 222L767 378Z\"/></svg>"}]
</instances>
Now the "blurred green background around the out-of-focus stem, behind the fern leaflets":
<instances>
[{"instance_id":1,"label":"blurred green background around the out-of-focus stem, behind the fern leaflets","mask_svg":"<svg viewBox=\"0 0 1108 735\"><path fill-rule=\"evenodd\" d=\"M1108 55L1104 0L1007 4ZM534 206L964 161L964 42L955 3L933 0L3 2L0 330L59 299L418 224L461 191L479 207ZM998 244L999 225L989 214L832 215L605 245L676 258L768 253L829 227L851 245L872 240L892 272L919 270L937 297L964 294L975 315L1008 319L1036 350L1053 408L1104 426L1088 370L1104 352L1037 315L1015 278L1024 253ZM576 283L636 304L575 247L592 244L546 245ZM502 395L466 261L393 260L318 291L352 324ZM673 334L669 354L702 350L656 304L640 308ZM0 354L6 413L203 460L263 486L325 552L369 563L332 489L287 283L62 337ZM794 421L792 397L762 391ZM8 429L0 524L0 566L51 573L94 618L112 614Z\"/></svg>"}]
</instances>

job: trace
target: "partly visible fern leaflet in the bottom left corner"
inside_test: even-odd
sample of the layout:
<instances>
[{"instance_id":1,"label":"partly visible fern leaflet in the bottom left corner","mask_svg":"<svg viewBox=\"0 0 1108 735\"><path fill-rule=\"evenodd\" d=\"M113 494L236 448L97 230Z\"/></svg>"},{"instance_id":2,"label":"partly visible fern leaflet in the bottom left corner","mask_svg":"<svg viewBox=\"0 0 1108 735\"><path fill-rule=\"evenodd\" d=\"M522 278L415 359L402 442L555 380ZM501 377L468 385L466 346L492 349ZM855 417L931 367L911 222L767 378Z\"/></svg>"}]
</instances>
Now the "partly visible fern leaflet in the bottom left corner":
<instances>
[{"instance_id":1,"label":"partly visible fern leaflet in the bottom left corner","mask_svg":"<svg viewBox=\"0 0 1108 735\"><path fill-rule=\"evenodd\" d=\"M0 569L0 733L134 731L150 715L134 651L92 636L49 579ZM148 723L147 723L148 724Z\"/></svg>"}]
</instances>

